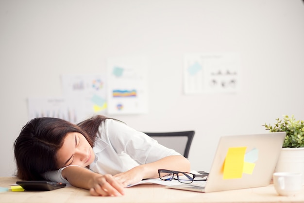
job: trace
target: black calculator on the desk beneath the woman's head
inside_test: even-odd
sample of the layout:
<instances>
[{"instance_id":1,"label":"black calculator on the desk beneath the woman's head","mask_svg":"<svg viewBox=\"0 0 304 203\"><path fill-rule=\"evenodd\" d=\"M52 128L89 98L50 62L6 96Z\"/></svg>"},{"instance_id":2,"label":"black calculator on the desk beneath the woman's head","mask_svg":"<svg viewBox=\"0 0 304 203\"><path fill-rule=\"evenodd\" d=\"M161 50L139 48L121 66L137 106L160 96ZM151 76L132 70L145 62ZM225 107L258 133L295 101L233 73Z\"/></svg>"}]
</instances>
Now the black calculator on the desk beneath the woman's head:
<instances>
[{"instance_id":1,"label":"black calculator on the desk beneath the woman's head","mask_svg":"<svg viewBox=\"0 0 304 203\"><path fill-rule=\"evenodd\" d=\"M49 191L67 186L65 183L50 181L17 181L16 183L23 189L31 191Z\"/></svg>"}]
</instances>

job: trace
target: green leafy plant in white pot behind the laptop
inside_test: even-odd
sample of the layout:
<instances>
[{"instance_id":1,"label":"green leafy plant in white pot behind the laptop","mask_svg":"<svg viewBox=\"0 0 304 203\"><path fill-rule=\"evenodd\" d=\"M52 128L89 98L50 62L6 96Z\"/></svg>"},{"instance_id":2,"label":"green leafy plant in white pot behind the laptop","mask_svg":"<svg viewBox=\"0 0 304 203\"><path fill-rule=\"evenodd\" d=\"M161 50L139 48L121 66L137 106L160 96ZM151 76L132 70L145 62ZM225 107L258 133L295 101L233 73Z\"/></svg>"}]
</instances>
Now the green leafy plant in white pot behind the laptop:
<instances>
[{"instance_id":1,"label":"green leafy plant in white pot behind the laptop","mask_svg":"<svg viewBox=\"0 0 304 203\"><path fill-rule=\"evenodd\" d=\"M286 132L276 172L301 172L304 184L304 121L294 116L277 118L273 125L263 125L270 132Z\"/></svg>"}]
</instances>

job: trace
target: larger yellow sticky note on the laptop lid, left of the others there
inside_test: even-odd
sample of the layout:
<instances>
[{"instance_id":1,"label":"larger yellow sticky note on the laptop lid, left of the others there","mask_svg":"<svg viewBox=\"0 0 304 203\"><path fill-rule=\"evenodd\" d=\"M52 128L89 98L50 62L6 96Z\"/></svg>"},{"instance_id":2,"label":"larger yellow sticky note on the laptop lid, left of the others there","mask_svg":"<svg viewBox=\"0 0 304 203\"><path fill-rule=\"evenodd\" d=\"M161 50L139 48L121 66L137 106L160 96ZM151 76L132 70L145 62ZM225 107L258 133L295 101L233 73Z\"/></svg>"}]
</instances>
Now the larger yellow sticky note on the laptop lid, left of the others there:
<instances>
[{"instance_id":1,"label":"larger yellow sticky note on the laptop lid, left of the others there","mask_svg":"<svg viewBox=\"0 0 304 203\"><path fill-rule=\"evenodd\" d=\"M231 147L228 149L223 167L223 179L242 177L245 152L246 147Z\"/></svg>"}]
</instances>

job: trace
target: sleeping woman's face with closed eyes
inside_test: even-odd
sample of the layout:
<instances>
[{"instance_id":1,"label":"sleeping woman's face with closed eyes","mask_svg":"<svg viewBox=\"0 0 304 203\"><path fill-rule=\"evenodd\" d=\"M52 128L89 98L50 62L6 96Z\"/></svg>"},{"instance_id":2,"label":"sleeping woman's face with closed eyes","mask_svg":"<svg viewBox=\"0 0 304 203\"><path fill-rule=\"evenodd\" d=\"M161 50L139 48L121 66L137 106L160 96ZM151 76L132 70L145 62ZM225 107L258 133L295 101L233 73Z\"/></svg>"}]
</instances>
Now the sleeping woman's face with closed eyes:
<instances>
[{"instance_id":1,"label":"sleeping woman's face with closed eyes","mask_svg":"<svg viewBox=\"0 0 304 203\"><path fill-rule=\"evenodd\" d=\"M95 154L84 135L72 132L66 135L62 147L57 151L56 158L59 168L68 165L86 167L93 163Z\"/></svg>"}]
</instances>

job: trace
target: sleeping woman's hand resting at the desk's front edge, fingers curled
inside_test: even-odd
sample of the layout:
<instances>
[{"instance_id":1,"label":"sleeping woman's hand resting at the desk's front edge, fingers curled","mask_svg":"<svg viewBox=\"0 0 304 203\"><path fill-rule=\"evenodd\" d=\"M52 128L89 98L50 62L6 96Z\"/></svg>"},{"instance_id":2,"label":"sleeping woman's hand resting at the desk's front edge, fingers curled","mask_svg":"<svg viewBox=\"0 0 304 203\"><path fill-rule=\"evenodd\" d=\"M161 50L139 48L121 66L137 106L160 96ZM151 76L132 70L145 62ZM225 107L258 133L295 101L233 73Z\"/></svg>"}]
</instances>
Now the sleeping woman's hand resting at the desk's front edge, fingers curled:
<instances>
[{"instance_id":1,"label":"sleeping woman's hand resting at the desk's front edge, fingers curled","mask_svg":"<svg viewBox=\"0 0 304 203\"><path fill-rule=\"evenodd\" d=\"M123 195L123 185L112 175L97 175L91 180L90 194L93 196Z\"/></svg>"}]
</instances>

